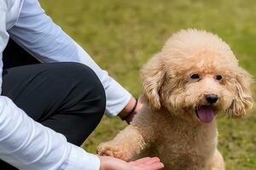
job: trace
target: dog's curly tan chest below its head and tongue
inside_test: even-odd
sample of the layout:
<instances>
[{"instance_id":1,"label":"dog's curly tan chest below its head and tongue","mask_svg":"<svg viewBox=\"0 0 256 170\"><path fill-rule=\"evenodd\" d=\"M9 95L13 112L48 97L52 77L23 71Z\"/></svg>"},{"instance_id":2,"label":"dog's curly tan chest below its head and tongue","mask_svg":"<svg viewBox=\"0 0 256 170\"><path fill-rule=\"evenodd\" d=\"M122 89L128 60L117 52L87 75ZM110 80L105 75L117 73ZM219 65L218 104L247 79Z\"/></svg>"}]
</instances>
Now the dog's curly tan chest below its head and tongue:
<instances>
[{"instance_id":1,"label":"dog's curly tan chest below its head and tongue","mask_svg":"<svg viewBox=\"0 0 256 170\"><path fill-rule=\"evenodd\" d=\"M217 146L216 127L199 129L183 123L168 123L163 127L152 146L165 163L165 169L205 169Z\"/></svg>"}]
</instances>

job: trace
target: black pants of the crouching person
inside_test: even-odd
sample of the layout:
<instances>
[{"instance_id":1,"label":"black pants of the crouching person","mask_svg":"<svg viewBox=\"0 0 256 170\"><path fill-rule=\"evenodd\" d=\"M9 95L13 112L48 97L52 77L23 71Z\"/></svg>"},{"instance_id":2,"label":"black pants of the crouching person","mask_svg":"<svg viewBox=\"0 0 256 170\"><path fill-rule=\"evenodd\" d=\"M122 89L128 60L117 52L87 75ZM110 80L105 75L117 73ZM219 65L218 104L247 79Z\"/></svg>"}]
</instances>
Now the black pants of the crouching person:
<instances>
[{"instance_id":1,"label":"black pants of the crouching person","mask_svg":"<svg viewBox=\"0 0 256 170\"><path fill-rule=\"evenodd\" d=\"M3 62L7 66L2 95L33 120L64 134L68 142L81 145L101 121L105 92L89 67L77 63L33 64L37 60L15 42L9 42ZM0 169L15 167L0 161Z\"/></svg>"}]
</instances>

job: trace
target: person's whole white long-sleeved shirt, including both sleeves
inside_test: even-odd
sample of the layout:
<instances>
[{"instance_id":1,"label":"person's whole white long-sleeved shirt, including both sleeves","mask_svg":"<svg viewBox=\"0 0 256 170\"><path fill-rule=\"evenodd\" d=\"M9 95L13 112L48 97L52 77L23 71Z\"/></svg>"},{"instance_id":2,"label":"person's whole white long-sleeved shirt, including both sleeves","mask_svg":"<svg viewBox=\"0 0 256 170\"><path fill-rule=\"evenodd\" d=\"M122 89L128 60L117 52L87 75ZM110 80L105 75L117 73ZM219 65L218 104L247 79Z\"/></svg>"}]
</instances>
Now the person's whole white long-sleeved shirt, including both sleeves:
<instances>
[{"instance_id":1,"label":"person's whole white long-sleeved shirt, including both sleeves","mask_svg":"<svg viewBox=\"0 0 256 170\"><path fill-rule=\"evenodd\" d=\"M73 61L90 66L105 88L108 116L116 116L131 99L131 94L55 25L37 0L0 0L0 75L9 37L42 62ZM24 170L96 170L100 166L97 156L68 143L61 133L34 122L4 96L0 96L0 158Z\"/></svg>"}]
</instances>

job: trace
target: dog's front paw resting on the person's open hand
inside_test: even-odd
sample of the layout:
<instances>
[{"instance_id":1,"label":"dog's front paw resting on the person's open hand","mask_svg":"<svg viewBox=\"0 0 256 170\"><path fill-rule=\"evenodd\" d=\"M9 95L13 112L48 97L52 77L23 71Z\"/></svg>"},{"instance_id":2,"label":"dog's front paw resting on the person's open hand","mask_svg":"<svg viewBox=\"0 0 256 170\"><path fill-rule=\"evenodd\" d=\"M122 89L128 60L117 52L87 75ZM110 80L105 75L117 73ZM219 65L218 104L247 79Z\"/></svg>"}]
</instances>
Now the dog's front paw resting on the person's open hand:
<instances>
[{"instance_id":1,"label":"dog's front paw resting on the person's open hand","mask_svg":"<svg viewBox=\"0 0 256 170\"><path fill-rule=\"evenodd\" d=\"M99 144L96 153L100 156L113 156L125 161L131 159L131 155L128 152L125 153L124 148L119 147L117 144L112 144L111 142Z\"/></svg>"}]
</instances>

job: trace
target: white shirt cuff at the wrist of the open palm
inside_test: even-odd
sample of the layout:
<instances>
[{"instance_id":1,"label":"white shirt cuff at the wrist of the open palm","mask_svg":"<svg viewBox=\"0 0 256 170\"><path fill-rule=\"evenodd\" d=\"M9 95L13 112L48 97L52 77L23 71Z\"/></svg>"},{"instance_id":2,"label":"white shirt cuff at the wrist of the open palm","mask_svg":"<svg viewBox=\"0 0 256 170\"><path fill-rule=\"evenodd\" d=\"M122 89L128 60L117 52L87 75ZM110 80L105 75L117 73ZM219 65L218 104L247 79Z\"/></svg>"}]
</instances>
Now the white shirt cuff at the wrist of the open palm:
<instances>
[{"instance_id":1,"label":"white shirt cuff at the wrist of the open palm","mask_svg":"<svg viewBox=\"0 0 256 170\"><path fill-rule=\"evenodd\" d=\"M71 145L67 164L61 170L99 170L100 165L98 156L87 153L79 146Z\"/></svg>"}]
</instances>

